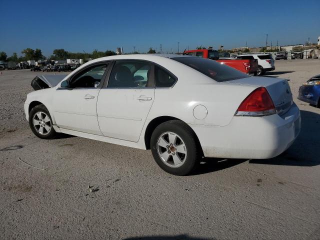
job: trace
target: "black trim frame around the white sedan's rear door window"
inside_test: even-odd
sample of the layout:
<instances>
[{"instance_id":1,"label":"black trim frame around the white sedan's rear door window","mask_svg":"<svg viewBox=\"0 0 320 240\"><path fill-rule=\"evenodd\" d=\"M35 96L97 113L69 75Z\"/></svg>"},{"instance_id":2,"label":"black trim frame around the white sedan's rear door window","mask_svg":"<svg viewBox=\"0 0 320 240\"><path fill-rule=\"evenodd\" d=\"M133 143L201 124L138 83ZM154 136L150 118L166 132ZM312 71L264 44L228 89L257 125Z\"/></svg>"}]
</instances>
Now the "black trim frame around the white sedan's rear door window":
<instances>
[{"instance_id":1,"label":"black trim frame around the white sedan's rear door window","mask_svg":"<svg viewBox=\"0 0 320 240\"><path fill-rule=\"evenodd\" d=\"M108 83L109 83L109 79L110 79L110 75L111 75L112 69L113 69L116 61L142 61L142 62L151 63L150 79L148 79L148 81L146 83L149 86L146 86L146 87L107 87ZM154 64L155 63L152 62L152 61L143 60L143 59L116 59L116 60L113 60L112 63L110 64L110 68L108 69L108 73L105 76L105 81L103 83L102 88L103 89L154 89L155 88Z\"/></svg>"}]
</instances>

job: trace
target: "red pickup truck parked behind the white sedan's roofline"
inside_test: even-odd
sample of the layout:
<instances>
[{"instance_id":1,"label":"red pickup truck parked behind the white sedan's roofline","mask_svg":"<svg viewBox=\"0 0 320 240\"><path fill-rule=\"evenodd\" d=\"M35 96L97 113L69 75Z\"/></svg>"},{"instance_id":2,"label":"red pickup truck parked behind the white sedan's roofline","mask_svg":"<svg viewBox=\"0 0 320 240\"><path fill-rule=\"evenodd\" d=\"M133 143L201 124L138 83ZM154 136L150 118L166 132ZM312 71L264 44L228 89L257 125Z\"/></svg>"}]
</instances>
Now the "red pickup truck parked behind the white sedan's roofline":
<instances>
[{"instance_id":1,"label":"red pickup truck parked behind the white sedan's roofline","mask_svg":"<svg viewBox=\"0 0 320 240\"><path fill-rule=\"evenodd\" d=\"M256 59L234 59L230 57L219 58L218 51L212 49L185 50L183 54L209 58L221 62L221 64L231 66L239 71L255 76L258 68L258 62Z\"/></svg>"}]
</instances>

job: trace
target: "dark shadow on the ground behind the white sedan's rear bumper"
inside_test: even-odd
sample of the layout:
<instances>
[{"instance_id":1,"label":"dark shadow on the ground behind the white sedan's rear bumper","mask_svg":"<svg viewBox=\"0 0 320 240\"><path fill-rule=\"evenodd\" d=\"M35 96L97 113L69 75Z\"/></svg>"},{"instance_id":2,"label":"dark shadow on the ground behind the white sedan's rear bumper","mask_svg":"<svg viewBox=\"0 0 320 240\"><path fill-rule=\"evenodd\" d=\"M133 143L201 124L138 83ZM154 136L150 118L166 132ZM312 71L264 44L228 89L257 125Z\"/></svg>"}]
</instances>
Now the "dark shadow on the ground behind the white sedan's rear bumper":
<instances>
[{"instance_id":1,"label":"dark shadow on the ground behind the white sedan's rear bumper","mask_svg":"<svg viewBox=\"0 0 320 240\"><path fill-rule=\"evenodd\" d=\"M288 166L320 164L320 114L301 110L301 131L293 144L279 156L270 159L250 159L249 163Z\"/></svg>"}]
</instances>

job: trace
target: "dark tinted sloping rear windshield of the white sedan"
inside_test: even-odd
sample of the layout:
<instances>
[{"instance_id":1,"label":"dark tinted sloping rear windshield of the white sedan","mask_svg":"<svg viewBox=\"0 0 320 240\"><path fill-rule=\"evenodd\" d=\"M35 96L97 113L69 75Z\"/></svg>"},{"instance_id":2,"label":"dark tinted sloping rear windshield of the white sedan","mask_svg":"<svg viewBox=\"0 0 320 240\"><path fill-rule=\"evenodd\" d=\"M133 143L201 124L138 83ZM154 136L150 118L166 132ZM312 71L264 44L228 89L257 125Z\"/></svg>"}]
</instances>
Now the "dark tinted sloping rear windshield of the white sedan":
<instances>
[{"instance_id":1,"label":"dark tinted sloping rear windshield of the white sedan","mask_svg":"<svg viewBox=\"0 0 320 240\"><path fill-rule=\"evenodd\" d=\"M172 59L192 67L218 82L249 77L249 75L244 74L241 71L207 58L174 57Z\"/></svg>"}]
</instances>

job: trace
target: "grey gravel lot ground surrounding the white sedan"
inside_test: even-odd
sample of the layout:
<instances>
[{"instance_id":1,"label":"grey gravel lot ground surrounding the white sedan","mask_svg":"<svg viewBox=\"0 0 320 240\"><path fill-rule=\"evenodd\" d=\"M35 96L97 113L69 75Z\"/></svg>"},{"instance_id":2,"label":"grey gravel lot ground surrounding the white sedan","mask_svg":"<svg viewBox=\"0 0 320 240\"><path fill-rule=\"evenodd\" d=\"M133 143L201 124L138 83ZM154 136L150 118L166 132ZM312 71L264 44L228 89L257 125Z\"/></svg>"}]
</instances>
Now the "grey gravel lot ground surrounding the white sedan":
<instances>
[{"instance_id":1,"label":"grey gravel lot ground surrounding the white sedan","mask_svg":"<svg viewBox=\"0 0 320 240\"><path fill-rule=\"evenodd\" d=\"M39 73L2 71L0 238L320 239L320 109L296 99L319 69L318 59L277 60L268 75L290 79L301 110L287 153L205 159L183 177L161 170L150 151L35 137L23 102Z\"/></svg>"}]
</instances>

